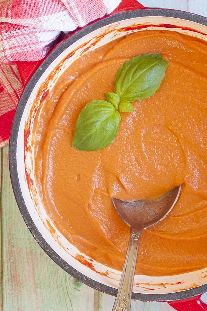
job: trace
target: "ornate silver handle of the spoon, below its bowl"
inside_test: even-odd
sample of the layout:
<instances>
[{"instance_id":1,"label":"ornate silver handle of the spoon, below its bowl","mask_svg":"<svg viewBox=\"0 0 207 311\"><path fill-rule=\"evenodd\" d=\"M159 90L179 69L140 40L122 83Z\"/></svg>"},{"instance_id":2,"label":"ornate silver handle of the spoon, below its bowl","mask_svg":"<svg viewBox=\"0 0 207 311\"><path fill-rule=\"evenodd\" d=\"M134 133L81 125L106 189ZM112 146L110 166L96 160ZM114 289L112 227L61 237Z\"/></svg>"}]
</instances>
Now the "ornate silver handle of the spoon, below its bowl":
<instances>
[{"instance_id":1,"label":"ornate silver handle of the spoon, below its bowl","mask_svg":"<svg viewBox=\"0 0 207 311\"><path fill-rule=\"evenodd\" d=\"M139 242L140 234L131 232L119 288L112 311L130 311Z\"/></svg>"}]
</instances>

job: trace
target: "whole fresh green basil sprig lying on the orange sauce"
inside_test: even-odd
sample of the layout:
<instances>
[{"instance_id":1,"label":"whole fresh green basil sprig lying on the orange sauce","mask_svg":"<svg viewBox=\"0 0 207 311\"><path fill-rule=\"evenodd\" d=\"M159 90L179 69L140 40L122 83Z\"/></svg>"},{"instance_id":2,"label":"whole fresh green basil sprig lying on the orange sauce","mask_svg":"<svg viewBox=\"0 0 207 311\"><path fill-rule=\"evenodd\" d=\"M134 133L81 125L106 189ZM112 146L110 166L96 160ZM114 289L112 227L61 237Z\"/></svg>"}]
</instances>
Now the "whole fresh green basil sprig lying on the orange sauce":
<instances>
[{"instance_id":1,"label":"whole fresh green basil sprig lying on the orange sauce","mask_svg":"<svg viewBox=\"0 0 207 311\"><path fill-rule=\"evenodd\" d=\"M159 53L138 55L125 62L115 76L115 92L106 92L106 101L94 100L80 112L72 145L85 151L110 145L121 120L118 110L132 112L131 102L153 95L160 87L167 66L168 62Z\"/></svg>"}]
</instances>

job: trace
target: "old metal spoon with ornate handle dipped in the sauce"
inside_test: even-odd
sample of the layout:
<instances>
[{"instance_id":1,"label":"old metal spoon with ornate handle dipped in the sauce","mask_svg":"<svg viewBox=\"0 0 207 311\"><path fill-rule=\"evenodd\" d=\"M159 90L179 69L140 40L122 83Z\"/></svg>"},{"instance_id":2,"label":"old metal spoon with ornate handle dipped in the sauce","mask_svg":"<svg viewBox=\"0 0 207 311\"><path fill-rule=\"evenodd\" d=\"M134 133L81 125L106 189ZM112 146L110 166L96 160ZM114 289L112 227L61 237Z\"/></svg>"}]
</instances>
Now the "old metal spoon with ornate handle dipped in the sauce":
<instances>
[{"instance_id":1,"label":"old metal spoon with ornate handle dipped in the sauce","mask_svg":"<svg viewBox=\"0 0 207 311\"><path fill-rule=\"evenodd\" d=\"M151 201L127 202L112 198L119 216L130 226L130 237L118 292L112 311L130 311L132 288L137 262L140 236L167 216L178 200L181 186L173 188L162 197Z\"/></svg>"}]
</instances>

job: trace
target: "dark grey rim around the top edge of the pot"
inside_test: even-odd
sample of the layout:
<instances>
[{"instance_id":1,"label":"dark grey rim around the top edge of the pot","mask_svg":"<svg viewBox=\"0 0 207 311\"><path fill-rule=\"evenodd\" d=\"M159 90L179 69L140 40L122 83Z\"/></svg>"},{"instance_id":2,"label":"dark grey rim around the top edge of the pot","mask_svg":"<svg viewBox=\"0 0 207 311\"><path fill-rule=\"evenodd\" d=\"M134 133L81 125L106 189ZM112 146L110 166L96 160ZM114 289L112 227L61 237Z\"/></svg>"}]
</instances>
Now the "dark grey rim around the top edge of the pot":
<instances>
[{"instance_id":1,"label":"dark grey rim around the top edge of the pot","mask_svg":"<svg viewBox=\"0 0 207 311\"><path fill-rule=\"evenodd\" d=\"M9 142L9 169L10 169L10 177L11 177L11 184L13 188L13 192L15 195L15 199L17 205L20 209L20 213L29 229L31 234L34 236L38 244L41 248L49 255L49 257L56 262L63 270L68 272L71 276L78 279L82 283L104 292L109 295L116 295L117 289L110 287L108 285L104 285L100 282L94 281L93 279L89 278L88 276L83 275L81 272L74 269L70 266L65 260L63 260L54 250L53 248L45 241L43 236L38 231L34 221L32 220L29 211L25 205L25 201L23 199L23 195L21 193L20 183L18 179L18 172L17 172L17 138L18 138L18 131L20 127L21 116L25 109L26 102L29 98L33 90L33 86L37 83L39 77L45 72L47 67L56 59L68 46L73 44L78 39L88 35L94 30L97 30L103 26L112 24L114 22L118 22L125 19L132 19L136 17L144 17L144 16L164 16L164 17L174 17L179 19L184 19L188 21L193 21L198 24L202 24L207 26L207 18L204 16L200 16L194 13L173 10L173 9L137 9L132 11L120 12L114 15L106 16L100 20L92 22L91 24L76 30L72 33L69 37L64 39L60 44L58 44L52 52L47 56L47 58L43 61L43 63L38 67L36 72L33 76L29 79L27 83L19 104L16 109L16 113L14 116L12 128L11 128L11 135L10 135L10 142ZM145 293L132 293L133 300L139 301L175 301L180 299L186 299L189 297L194 297L196 295L202 294L207 291L207 284L201 285L189 290L183 290L180 292L173 292L173 293L165 293L165 294L145 294Z\"/></svg>"}]
</instances>

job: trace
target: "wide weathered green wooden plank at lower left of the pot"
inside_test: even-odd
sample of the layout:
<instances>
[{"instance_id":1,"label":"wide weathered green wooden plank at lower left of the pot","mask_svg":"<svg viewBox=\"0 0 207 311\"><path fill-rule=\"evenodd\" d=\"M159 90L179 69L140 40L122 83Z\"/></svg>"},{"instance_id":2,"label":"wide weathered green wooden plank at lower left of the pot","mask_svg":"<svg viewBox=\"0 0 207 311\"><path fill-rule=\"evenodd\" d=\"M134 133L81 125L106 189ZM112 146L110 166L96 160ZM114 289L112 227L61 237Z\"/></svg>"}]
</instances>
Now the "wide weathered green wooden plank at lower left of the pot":
<instances>
[{"instance_id":1,"label":"wide weathered green wooden plank at lower left of the pot","mask_svg":"<svg viewBox=\"0 0 207 311\"><path fill-rule=\"evenodd\" d=\"M94 290L63 271L40 248L20 215L2 150L2 311L93 310Z\"/></svg>"}]
</instances>

